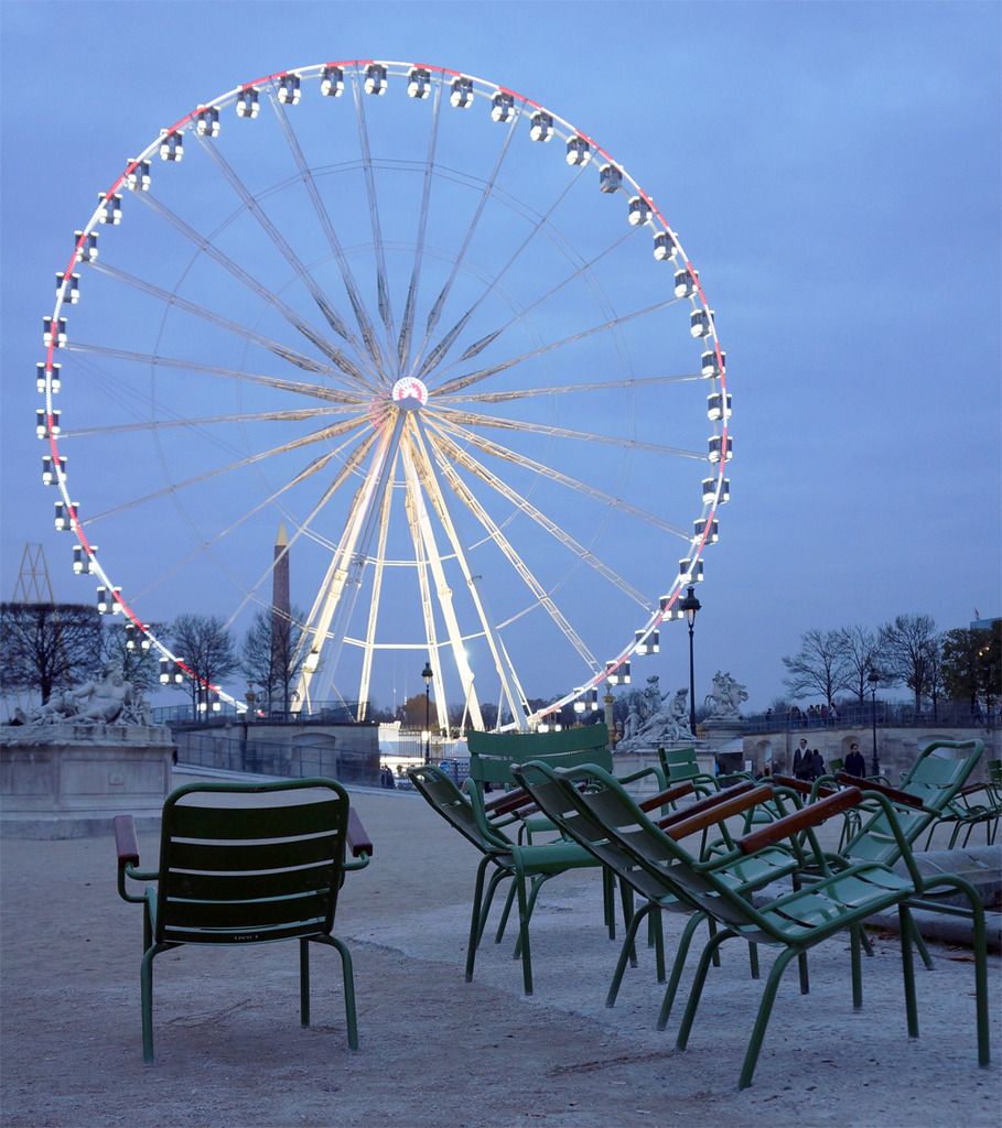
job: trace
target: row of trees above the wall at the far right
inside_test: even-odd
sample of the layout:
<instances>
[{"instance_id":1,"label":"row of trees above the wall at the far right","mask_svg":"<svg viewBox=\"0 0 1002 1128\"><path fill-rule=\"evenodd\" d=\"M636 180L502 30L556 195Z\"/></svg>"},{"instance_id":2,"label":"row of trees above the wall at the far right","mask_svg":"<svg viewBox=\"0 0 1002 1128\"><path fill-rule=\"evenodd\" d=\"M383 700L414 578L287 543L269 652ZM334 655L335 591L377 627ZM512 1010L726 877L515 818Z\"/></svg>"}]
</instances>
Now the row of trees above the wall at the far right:
<instances>
[{"instance_id":1,"label":"row of trees above the wall at the far right","mask_svg":"<svg viewBox=\"0 0 1002 1128\"><path fill-rule=\"evenodd\" d=\"M982 707L990 713L1000 696L1002 623L940 632L929 615L898 615L877 629L810 629L783 666L783 682L796 699L862 704L871 689L904 686L916 712L951 700L969 703L972 714Z\"/></svg>"}]
</instances>

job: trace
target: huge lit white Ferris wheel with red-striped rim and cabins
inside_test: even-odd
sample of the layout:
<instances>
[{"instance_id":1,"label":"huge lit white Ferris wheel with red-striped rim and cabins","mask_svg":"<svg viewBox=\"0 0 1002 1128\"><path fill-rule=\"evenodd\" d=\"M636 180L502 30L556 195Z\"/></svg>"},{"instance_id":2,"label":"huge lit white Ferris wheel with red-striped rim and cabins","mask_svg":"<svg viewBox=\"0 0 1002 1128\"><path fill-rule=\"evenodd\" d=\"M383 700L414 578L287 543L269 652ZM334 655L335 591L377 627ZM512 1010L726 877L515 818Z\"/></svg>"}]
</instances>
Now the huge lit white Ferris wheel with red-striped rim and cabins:
<instances>
[{"instance_id":1,"label":"huge lit white Ferris wheel with red-striped rim and cabins","mask_svg":"<svg viewBox=\"0 0 1002 1128\"><path fill-rule=\"evenodd\" d=\"M297 707L363 720L420 661L443 729L597 707L730 493L714 312L653 197L440 67L195 106L98 196L43 336L43 483L98 609L193 675L149 623L246 629L284 561Z\"/></svg>"}]
</instances>

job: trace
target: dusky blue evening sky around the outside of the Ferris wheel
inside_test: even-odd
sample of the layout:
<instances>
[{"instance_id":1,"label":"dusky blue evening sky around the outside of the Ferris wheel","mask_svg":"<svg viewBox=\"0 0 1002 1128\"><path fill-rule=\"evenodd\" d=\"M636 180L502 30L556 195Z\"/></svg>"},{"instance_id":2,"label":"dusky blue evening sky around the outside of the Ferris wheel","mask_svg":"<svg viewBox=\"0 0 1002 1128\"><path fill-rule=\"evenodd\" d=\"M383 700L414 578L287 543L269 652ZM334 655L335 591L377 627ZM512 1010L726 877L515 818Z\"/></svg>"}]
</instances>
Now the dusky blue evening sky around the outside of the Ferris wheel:
<instances>
[{"instance_id":1,"label":"dusky blue evening sky around the outside of the Ferris wheel","mask_svg":"<svg viewBox=\"0 0 1002 1128\"><path fill-rule=\"evenodd\" d=\"M811 627L926 613L946 629L1002 611L997 3L8 0L0 19L5 599L26 541L44 545L56 598L91 598L39 482L34 369L54 272L96 193L203 100L375 58L480 76L573 122L662 204L700 266L735 404L732 501L698 589L700 696L722 669L765 708ZM406 275L395 284L399 306ZM88 473L131 473L88 457ZM138 584L158 549L122 545L115 571ZM625 547L643 557L642 530ZM199 596L211 610L212 591ZM569 615L587 622L577 599ZM683 685L685 646L663 632L635 672ZM395 675L410 691L422 656ZM529 696L569 688L561 671L533 679Z\"/></svg>"}]
</instances>

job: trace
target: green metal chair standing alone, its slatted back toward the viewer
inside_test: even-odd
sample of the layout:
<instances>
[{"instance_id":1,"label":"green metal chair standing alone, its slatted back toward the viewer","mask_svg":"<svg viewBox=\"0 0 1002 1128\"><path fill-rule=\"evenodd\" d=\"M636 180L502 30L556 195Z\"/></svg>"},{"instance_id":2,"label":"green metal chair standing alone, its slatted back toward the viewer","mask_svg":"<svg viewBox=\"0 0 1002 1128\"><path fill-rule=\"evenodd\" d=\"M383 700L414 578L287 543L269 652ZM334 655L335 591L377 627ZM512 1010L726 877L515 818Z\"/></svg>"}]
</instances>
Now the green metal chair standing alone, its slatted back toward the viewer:
<instances>
[{"instance_id":1,"label":"green metal chair standing alone, its slatted back toward the viewer","mask_svg":"<svg viewBox=\"0 0 1002 1128\"><path fill-rule=\"evenodd\" d=\"M153 959L183 944L299 941L300 1021L309 1025L309 944L341 957L348 1043L358 1049L351 954L332 934L348 870L372 845L333 779L193 783L164 803L157 870L139 867L131 816L114 820L118 892L143 906L140 971L143 1058L153 1060ZM346 861L351 853L353 861ZM126 879L156 882L143 893Z\"/></svg>"}]
</instances>

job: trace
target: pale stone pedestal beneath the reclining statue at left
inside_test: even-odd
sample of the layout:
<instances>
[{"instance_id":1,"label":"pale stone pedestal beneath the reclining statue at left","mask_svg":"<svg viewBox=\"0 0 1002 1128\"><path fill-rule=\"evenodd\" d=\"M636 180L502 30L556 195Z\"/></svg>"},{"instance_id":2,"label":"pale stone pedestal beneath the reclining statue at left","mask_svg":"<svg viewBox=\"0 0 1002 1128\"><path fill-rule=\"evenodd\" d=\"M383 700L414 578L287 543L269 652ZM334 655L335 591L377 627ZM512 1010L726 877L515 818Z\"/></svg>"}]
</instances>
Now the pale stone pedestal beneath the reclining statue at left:
<instances>
[{"instance_id":1,"label":"pale stone pedestal beneath the reclining statue at left","mask_svg":"<svg viewBox=\"0 0 1002 1128\"><path fill-rule=\"evenodd\" d=\"M159 820L170 790L170 732L146 725L0 725L0 835L80 838L116 814Z\"/></svg>"}]
</instances>

